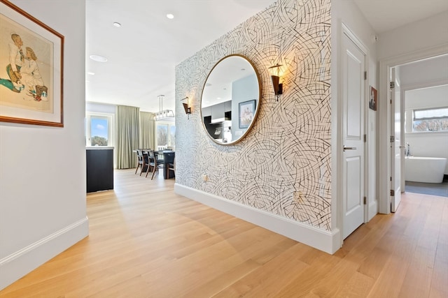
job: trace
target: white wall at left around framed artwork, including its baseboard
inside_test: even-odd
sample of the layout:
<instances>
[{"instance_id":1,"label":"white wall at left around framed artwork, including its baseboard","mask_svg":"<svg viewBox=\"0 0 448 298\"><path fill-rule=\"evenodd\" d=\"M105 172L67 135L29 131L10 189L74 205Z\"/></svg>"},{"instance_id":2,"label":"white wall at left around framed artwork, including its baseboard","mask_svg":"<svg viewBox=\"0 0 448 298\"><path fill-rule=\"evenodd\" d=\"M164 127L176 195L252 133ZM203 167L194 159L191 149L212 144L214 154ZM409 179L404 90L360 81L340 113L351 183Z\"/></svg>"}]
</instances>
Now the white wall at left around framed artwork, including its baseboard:
<instances>
[{"instance_id":1,"label":"white wall at left around framed artwork, including its baseboard","mask_svg":"<svg viewBox=\"0 0 448 298\"><path fill-rule=\"evenodd\" d=\"M0 289L88 234L85 1L11 2L65 36L64 127L0 123Z\"/></svg>"}]
</instances>

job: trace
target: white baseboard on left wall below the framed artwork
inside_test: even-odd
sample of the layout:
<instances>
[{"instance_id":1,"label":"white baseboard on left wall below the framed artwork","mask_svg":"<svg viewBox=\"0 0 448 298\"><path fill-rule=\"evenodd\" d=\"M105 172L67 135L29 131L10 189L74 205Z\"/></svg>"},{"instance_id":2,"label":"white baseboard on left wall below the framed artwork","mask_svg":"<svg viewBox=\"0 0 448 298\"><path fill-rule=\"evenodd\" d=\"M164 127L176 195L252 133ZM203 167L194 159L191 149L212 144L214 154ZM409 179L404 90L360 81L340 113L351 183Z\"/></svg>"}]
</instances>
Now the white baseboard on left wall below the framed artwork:
<instances>
[{"instance_id":1,"label":"white baseboard on left wall below the framed artwork","mask_svg":"<svg viewBox=\"0 0 448 298\"><path fill-rule=\"evenodd\" d=\"M87 216L0 260L0 290L33 271L89 234Z\"/></svg>"}]
</instances>

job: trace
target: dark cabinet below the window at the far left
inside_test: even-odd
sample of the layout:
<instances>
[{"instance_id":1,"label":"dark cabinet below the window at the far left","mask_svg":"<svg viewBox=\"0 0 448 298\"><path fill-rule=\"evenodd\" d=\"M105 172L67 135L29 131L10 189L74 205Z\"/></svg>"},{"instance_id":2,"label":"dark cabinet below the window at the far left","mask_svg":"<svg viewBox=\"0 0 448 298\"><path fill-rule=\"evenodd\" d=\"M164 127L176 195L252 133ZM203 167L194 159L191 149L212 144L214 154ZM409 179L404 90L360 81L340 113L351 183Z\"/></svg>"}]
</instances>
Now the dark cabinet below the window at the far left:
<instances>
[{"instance_id":1,"label":"dark cabinet below the window at the far left","mask_svg":"<svg viewBox=\"0 0 448 298\"><path fill-rule=\"evenodd\" d=\"M113 148L87 147L85 151L87 193L113 189Z\"/></svg>"}]
</instances>

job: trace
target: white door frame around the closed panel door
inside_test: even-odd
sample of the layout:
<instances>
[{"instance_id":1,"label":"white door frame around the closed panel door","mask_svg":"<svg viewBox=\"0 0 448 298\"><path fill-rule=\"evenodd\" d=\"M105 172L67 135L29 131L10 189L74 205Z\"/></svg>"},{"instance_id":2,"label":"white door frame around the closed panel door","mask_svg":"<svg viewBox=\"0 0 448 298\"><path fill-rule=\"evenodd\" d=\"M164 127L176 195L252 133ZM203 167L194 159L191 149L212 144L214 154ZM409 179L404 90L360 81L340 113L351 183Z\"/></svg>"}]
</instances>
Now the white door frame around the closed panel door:
<instances>
[{"instance_id":1,"label":"white door frame around the closed panel door","mask_svg":"<svg viewBox=\"0 0 448 298\"><path fill-rule=\"evenodd\" d=\"M364 80L364 103L366 103L368 95L369 95L369 50L368 47L366 47L364 45L364 43L360 40L360 38L358 38L358 36L356 36L355 33L353 33L353 31L343 22L340 23L341 24L341 29L339 30L339 55L338 55L338 71L337 71L337 76L338 76L338 80L337 80L337 84L338 84L338 88L337 88L337 98L342 98L343 96L343 81L342 81L342 55L343 53L343 49L342 49L342 38L344 38L344 34L351 40L351 42L356 45L356 47L358 47L358 49L360 50L360 52L363 53L364 55L364 70L367 73L367 77L366 80ZM368 127L368 105L364 104L364 134L367 135L367 140L369 138L369 135L367 133L367 127ZM342 106L342 100L337 100L337 131L342 131L342 123L343 123L343 106ZM364 195L367 197L367 193L369 193L369 188L368 188L368 173L369 173L369 169L368 169L368 151L367 151L367 146L366 146L366 142L363 143L364 144ZM334 179L334 181L336 182L336 184L338 186L340 186L342 184L342 170L343 170L343 165L342 163L344 162L344 151L342 150L342 147L344 146L344 140L343 140L343 136L341 133L337 133L337 147L336 147L336 154L337 154L337 177L335 177L336 179ZM339 237L340 237L340 246L342 246L342 244L344 243L344 207L343 207L343 202L342 200L344 200L343 198L343 189L342 187L337 187L336 188L337 191L337 228L339 229ZM367 204L364 204L364 220L363 223L367 223L368 221L368 214L369 214L369 203L368 203L368 198L367 198Z\"/></svg>"}]
</instances>

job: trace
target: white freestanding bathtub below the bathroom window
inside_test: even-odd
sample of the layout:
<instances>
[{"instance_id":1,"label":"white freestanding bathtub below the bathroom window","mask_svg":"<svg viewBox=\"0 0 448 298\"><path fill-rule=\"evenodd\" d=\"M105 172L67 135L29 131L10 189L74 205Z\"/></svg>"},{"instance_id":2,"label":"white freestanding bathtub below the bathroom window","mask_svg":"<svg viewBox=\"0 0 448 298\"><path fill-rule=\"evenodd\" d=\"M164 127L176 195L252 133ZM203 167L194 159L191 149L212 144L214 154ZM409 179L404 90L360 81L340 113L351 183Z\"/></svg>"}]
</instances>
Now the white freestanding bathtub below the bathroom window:
<instances>
[{"instance_id":1,"label":"white freestanding bathtub below the bathroom window","mask_svg":"<svg viewBox=\"0 0 448 298\"><path fill-rule=\"evenodd\" d=\"M447 158L405 157L405 180L414 182L441 183Z\"/></svg>"}]
</instances>

